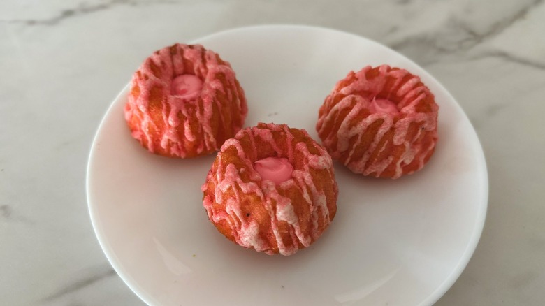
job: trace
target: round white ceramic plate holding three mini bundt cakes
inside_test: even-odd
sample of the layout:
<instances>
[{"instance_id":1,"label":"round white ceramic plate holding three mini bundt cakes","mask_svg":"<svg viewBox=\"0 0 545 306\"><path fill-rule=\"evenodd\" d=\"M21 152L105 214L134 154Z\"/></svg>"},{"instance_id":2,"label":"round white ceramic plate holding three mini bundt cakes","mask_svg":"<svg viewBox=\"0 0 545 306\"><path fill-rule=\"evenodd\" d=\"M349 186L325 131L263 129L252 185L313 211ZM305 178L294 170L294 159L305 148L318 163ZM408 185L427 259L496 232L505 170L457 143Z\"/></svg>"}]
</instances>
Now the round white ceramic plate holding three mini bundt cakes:
<instances>
[{"instance_id":1,"label":"round white ceramic plate holding three mini bundt cakes","mask_svg":"<svg viewBox=\"0 0 545 306\"><path fill-rule=\"evenodd\" d=\"M488 198L481 145L449 92L393 50L330 29L248 27L194 43L231 62L247 93L246 126L286 123L314 139L318 108L337 80L366 65L406 68L436 96L437 150L399 180L335 164L340 196L328 231L296 255L268 256L226 240L208 221L200 187L215 156L167 159L131 138L125 88L96 133L87 169L94 230L124 282L150 305L435 303L470 260Z\"/></svg>"}]
</instances>

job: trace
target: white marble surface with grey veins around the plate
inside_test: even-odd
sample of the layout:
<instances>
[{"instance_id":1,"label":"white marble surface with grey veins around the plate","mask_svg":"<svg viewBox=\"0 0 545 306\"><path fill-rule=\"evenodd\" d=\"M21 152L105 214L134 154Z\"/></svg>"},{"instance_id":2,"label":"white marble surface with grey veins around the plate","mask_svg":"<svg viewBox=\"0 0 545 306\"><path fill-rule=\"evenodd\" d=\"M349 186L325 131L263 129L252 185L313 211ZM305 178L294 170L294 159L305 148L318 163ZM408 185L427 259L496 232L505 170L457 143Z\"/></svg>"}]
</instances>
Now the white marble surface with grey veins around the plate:
<instances>
[{"instance_id":1,"label":"white marble surface with grey veins around the plate","mask_svg":"<svg viewBox=\"0 0 545 306\"><path fill-rule=\"evenodd\" d=\"M544 1L31 1L0 3L1 305L143 305L87 213L101 117L163 45L254 24L310 24L388 45L463 107L490 176L472 260L436 305L545 300Z\"/></svg>"}]
</instances>

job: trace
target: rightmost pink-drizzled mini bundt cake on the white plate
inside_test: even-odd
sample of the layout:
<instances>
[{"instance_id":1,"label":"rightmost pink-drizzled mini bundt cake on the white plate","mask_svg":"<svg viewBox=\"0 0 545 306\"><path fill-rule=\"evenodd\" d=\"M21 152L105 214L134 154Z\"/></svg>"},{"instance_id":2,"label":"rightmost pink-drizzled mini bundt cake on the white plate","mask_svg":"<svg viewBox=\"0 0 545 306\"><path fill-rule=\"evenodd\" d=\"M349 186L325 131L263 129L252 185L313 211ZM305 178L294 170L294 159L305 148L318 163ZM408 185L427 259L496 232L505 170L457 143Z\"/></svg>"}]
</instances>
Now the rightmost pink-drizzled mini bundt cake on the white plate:
<instances>
[{"instance_id":1,"label":"rightmost pink-drizzled mini bundt cake on the white plate","mask_svg":"<svg viewBox=\"0 0 545 306\"><path fill-rule=\"evenodd\" d=\"M352 172L395 179L420 170L432 156L438 109L418 76L368 66L337 82L316 128L333 159Z\"/></svg>"}]
</instances>

